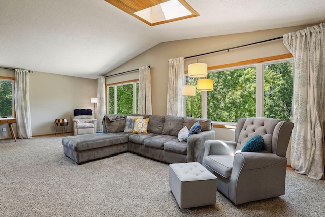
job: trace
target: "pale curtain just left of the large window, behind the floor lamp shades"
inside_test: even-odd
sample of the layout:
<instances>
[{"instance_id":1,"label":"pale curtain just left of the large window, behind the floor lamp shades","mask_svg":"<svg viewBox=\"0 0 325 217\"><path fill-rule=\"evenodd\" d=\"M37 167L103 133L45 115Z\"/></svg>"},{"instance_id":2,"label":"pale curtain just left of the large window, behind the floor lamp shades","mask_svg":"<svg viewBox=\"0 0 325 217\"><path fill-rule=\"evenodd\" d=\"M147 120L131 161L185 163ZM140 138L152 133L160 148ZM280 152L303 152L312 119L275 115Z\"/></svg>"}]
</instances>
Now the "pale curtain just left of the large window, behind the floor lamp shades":
<instances>
[{"instance_id":1,"label":"pale curtain just left of the large window, behind the floor lamp shades","mask_svg":"<svg viewBox=\"0 0 325 217\"><path fill-rule=\"evenodd\" d=\"M183 116L184 57L169 59L167 115Z\"/></svg>"}]
</instances>

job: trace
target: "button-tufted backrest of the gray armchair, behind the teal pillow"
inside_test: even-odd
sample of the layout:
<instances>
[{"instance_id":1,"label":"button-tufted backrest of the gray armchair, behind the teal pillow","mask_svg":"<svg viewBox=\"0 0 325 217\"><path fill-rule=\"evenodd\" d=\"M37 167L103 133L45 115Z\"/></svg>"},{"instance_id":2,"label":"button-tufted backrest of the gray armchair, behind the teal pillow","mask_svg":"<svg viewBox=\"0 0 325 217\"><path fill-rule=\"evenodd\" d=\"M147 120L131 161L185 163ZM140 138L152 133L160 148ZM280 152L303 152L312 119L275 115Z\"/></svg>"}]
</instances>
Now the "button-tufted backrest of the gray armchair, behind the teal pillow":
<instances>
[{"instance_id":1,"label":"button-tufted backrest of the gray armchair, behind the teal pillow","mask_svg":"<svg viewBox=\"0 0 325 217\"><path fill-rule=\"evenodd\" d=\"M261 152L285 156L294 124L289 121L265 117L239 119L235 130L236 150L253 137L260 135L264 139Z\"/></svg>"}]
</instances>

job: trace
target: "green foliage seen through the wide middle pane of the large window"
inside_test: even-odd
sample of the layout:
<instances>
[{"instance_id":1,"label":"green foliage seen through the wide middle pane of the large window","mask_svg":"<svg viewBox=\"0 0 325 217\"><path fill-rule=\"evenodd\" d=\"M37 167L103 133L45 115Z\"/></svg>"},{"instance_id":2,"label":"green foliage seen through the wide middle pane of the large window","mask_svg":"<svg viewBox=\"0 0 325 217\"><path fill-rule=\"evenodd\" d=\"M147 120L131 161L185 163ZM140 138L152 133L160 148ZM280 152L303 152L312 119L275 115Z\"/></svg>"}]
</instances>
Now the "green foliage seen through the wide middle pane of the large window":
<instances>
[{"instance_id":1,"label":"green foliage seen through the wide middle pane of the large window","mask_svg":"<svg viewBox=\"0 0 325 217\"><path fill-rule=\"evenodd\" d=\"M213 90L208 92L207 117L218 122L237 122L256 116L256 67L208 74Z\"/></svg>"}]
</instances>

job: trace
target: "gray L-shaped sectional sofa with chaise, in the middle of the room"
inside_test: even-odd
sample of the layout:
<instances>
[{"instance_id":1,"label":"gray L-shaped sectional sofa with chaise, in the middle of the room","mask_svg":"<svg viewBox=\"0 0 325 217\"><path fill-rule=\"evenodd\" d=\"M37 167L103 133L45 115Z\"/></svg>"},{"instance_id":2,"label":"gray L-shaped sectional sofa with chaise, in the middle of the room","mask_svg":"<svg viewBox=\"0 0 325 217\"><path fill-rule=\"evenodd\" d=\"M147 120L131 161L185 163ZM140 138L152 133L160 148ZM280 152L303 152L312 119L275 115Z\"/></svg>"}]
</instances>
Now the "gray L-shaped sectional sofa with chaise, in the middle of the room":
<instances>
[{"instance_id":1,"label":"gray L-shaped sectional sofa with chaise, in the middle of the room","mask_svg":"<svg viewBox=\"0 0 325 217\"><path fill-rule=\"evenodd\" d=\"M77 164L126 151L166 163L202 163L204 142L214 139L215 132L210 119L170 115L133 116L149 118L147 133L124 132L126 115L117 121L110 121L108 115L105 115L103 133L64 137L64 154ZM189 136L187 142L180 142L177 137L179 131L184 126L190 129L197 121L202 127L201 132Z\"/></svg>"}]
</instances>

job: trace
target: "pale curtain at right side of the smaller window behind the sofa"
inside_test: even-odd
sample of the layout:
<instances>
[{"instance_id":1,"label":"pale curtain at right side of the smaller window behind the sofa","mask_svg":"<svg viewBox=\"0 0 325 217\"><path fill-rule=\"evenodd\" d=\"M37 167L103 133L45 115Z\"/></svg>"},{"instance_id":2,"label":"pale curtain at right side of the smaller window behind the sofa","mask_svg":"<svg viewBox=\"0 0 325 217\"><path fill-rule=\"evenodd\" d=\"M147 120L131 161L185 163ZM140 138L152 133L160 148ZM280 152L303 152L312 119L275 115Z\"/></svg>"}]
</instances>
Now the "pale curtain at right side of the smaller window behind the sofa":
<instances>
[{"instance_id":1,"label":"pale curtain at right side of the smaller window behind the sofa","mask_svg":"<svg viewBox=\"0 0 325 217\"><path fill-rule=\"evenodd\" d=\"M139 114L152 114L150 67L139 68Z\"/></svg>"}]
</instances>

